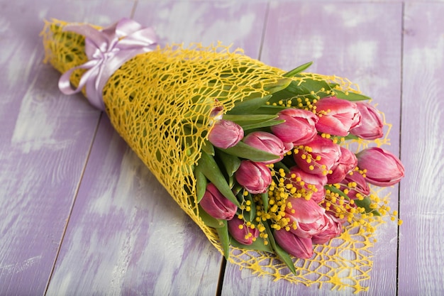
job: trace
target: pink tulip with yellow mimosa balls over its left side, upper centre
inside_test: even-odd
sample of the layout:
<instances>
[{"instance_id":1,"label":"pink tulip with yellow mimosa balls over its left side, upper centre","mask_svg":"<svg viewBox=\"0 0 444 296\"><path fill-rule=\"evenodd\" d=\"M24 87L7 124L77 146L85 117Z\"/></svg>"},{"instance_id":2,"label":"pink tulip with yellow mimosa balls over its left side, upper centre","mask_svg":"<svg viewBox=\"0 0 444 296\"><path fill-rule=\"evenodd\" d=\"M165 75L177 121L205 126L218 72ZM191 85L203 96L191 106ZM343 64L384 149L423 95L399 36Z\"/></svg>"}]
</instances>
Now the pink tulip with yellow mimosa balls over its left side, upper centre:
<instances>
[{"instance_id":1,"label":"pink tulip with yellow mimosa balls over its left side, upper centre","mask_svg":"<svg viewBox=\"0 0 444 296\"><path fill-rule=\"evenodd\" d=\"M311 148L311 152L307 153L304 148L301 148L298 150L298 153L293 155L294 161L304 172L315 175L325 175L328 170L331 170L334 165L338 164L341 154L340 146L333 143L333 141L322 138L321 136L316 136L314 140L307 143L306 146Z\"/></svg>"}]
</instances>

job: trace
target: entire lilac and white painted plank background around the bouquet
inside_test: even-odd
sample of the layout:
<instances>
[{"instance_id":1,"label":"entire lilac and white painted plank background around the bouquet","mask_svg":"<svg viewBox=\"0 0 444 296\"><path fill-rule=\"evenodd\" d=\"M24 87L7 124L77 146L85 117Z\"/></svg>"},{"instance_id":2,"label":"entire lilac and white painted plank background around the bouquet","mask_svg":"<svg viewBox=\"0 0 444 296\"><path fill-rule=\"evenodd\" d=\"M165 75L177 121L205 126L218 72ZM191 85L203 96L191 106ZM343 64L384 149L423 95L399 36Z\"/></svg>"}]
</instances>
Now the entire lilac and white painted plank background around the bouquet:
<instances>
[{"instance_id":1,"label":"entire lilac and white painted plank background around the bouquet","mask_svg":"<svg viewBox=\"0 0 444 296\"><path fill-rule=\"evenodd\" d=\"M81 95L44 65L44 18L155 26L285 70L348 77L393 124L404 224L362 295L444 294L444 2L0 0L0 295L350 295L257 278L221 255Z\"/></svg>"}]
</instances>

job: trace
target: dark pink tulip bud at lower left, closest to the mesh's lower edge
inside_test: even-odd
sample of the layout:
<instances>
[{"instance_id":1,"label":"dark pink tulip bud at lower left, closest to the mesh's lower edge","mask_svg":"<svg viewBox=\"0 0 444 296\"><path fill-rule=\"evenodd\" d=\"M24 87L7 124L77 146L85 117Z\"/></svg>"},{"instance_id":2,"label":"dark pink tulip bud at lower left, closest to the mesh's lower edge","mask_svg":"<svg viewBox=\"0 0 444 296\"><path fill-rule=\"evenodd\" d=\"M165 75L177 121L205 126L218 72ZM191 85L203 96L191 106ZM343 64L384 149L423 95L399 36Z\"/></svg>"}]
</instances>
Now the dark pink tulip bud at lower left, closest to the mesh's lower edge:
<instances>
[{"instance_id":1,"label":"dark pink tulip bud at lower left, closest to the mesh's lower edge","mask_svg":"<svg viewBox=\"0 0 444 296\"><path fill-rule=\"evenodd\" d=\"M199 204L205 212L216 219L233 219L238 210L238 207L224 197L212 183L206 185L204 197L202 197Z\"/></svg>"}]
</instances>

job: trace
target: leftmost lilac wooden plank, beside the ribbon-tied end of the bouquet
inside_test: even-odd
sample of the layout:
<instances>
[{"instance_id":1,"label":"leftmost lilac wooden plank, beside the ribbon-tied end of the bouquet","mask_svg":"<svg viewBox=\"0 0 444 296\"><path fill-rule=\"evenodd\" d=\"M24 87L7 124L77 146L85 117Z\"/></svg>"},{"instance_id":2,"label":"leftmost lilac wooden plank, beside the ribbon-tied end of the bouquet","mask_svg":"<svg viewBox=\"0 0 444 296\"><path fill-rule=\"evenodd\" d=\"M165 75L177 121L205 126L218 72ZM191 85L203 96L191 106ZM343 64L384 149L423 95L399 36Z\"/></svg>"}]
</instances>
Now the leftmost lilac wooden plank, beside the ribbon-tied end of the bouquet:
<instances>
[{"instance_id":1,"label":"leftmost lilac wooden plank, beside the ribbon-tied end of the bouquet","mask_svg":"<svg viewBox=\"0 0 444 296\"><path fill-rule=\"evenodd\" d=\"M117 10L86 3L102 20ZM0 1L0 295L44 294L99 121L42 63L43 18L80 20L87 9L78 5Z\"/></svg>"}]
</instances>

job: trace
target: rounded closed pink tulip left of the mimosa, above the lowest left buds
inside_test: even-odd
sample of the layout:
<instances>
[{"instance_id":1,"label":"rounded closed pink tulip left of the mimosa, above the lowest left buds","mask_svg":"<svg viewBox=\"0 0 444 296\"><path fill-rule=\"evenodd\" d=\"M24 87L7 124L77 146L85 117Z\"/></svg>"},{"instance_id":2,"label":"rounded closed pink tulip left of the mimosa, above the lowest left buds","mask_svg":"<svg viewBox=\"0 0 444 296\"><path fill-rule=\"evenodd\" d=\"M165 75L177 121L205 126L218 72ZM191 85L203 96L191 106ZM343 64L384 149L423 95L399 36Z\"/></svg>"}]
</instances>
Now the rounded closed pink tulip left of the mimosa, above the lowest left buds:
<instances>
[{"instance_id":1,"label":"rounded closed pink tulip left of the mimosa, above the lowest left buds","mask_svg":"<svg viewBox=\"0 0 444 296\"><path fill-rule=\"evenodd\" d=\"M267 165L255 163L251 160L242 160L235 179L252 194L264 193L272 182L272 174Z\"/></svg>"}]
</instances>

